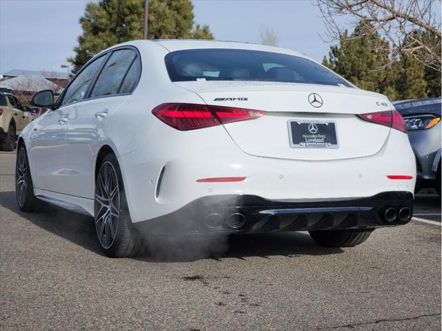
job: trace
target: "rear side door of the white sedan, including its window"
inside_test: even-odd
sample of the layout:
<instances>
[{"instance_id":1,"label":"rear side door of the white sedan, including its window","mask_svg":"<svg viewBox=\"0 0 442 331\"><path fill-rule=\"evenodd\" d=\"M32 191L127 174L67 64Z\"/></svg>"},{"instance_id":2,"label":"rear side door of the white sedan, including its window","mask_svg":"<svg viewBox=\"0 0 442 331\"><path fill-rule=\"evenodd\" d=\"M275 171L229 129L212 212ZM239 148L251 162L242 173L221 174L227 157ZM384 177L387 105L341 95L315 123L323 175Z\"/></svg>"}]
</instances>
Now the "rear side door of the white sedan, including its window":
<instances>
[{"instance_id":1,"label":"rear side door of the white sedan, including its window","mask_svg":"<svg viewBox=\"0 0 442 331\"><path fill-rule=\"evenodd\" d=\"M71 194L93 199L95 153L106 139L103 136L106 117L126 101L139 75L140 60L135 50L113 51L90 89L88 99L72 110L66 134L67 185Z\"/></svg>"}]
</instances>

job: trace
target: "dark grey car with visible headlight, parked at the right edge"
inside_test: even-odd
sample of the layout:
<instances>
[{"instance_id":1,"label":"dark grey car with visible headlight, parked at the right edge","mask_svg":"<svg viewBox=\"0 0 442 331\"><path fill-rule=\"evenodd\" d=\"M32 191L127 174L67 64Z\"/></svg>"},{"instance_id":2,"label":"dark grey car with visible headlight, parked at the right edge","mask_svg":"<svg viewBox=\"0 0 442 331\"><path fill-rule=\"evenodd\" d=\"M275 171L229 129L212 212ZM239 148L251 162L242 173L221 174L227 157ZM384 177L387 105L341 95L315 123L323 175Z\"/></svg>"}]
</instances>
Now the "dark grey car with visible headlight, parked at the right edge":
<instances>
[{"instance_id":1,"label":"dark grey car with visible headlight, parked at the right edge","mask_svg":"<svg viewBox=\"0 0 442 331\"><path fill-rule=\"evenodd\" d=\"M435 188L441 195L441 98L395 101L416 156L416 192Z\"/></svg>"}]
</instances>

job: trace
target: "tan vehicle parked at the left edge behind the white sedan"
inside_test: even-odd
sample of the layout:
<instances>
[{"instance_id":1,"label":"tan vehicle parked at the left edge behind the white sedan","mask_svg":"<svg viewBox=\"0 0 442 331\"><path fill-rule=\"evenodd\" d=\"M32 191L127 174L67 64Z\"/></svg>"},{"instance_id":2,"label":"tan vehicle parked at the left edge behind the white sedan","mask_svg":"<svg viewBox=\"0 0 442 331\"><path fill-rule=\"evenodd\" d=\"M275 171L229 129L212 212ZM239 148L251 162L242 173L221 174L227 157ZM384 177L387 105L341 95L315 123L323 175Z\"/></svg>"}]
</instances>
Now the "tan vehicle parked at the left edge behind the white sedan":
<instances>
[{"instance_id":1,"label":"tan vehicle parked at the left edge behind the white sedan","mask_svg":"<svg viewBox=\"0 0 442 331\"><path fill-rule=\"evenodd\" d=\"M33 119L11 92L0 89L0 150L6 151L14 150L16 137Z\"/></svg>"}]
</instances>

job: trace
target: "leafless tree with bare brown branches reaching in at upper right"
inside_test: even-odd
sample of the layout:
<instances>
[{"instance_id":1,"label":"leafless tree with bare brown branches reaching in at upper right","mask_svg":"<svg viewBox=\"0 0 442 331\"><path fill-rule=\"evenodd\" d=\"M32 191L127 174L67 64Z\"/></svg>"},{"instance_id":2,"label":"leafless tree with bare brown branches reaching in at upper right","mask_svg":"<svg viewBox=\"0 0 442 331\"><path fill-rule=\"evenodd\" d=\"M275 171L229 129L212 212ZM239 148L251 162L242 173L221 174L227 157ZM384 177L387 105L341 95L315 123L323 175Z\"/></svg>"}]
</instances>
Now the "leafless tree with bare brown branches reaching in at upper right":
<instances>
[{"instance_id":1,"label":"leafless tree with bare brown branches reaching in at upper right","mask_svg":"<svg viewBox=\"0 0 442 331\"><path fill-rule=\"evenodd\" d=\"M412 56L434 70L441 71L440 0L316 0L327 27L327 41L349 39L338 17L346 26L362 22L365 38L381 34L392 44L392 56ZM354 38L354 37L352 37Z\"/></svg>"}]
</instances>

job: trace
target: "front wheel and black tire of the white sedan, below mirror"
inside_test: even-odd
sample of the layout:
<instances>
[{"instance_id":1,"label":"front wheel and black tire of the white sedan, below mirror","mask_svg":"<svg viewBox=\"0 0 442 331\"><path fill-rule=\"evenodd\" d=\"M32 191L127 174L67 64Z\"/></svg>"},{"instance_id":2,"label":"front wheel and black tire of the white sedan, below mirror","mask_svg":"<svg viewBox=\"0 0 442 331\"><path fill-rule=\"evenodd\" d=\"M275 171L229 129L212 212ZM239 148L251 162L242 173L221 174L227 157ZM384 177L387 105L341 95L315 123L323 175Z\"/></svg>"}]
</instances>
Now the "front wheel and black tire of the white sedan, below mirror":
<instances>
[{"instance_id":1,"label":"front wheel and black tire of the white sedan, below mirror","mask_svg":"<svg viewBox=\"0 0 442 331\"><path fill-rule=\"evenodd\" d=\"M39 212L48 210L48 203L37 199L30 174L28 154L23 144L17 150L15 163L15 197L23 212Z\"/></svg>"}]
</instances>

